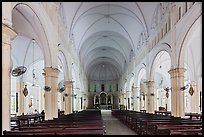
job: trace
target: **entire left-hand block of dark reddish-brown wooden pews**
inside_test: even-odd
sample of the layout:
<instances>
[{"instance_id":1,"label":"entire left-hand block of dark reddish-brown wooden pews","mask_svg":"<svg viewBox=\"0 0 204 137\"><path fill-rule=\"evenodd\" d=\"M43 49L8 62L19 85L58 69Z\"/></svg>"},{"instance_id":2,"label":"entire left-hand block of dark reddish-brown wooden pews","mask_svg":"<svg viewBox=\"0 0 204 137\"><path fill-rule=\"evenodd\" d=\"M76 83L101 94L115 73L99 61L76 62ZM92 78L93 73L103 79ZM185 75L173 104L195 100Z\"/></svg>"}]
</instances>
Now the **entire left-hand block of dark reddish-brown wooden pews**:
<instances>
[{"instance_id":1,"label":"entire left-hand block of dark reddish-brown wooden pews","mask_svg":"<svg viewBox=\"0 0 204 137\"><path fill-rule=\"evenodd\" d=\"M74 135L105 134L105 126L100 111L84 111L63 115L54 120L46 120L32 126L19 127L18 131L4 131L5 135Z\"/></svg>"}]
</instances>

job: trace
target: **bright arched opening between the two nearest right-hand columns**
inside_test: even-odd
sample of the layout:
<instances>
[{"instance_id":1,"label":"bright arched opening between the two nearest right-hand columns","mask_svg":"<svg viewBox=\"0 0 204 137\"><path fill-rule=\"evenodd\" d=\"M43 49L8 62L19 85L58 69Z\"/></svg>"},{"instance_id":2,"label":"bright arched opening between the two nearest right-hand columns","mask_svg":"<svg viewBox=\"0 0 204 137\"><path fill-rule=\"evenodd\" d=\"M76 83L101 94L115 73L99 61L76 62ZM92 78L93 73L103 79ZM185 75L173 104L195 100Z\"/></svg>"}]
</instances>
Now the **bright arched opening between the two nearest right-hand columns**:
<instances>
[{"instance_id":1,"label":"bright arched opening between the two nearest right-hand columns","mask_svg":"<svg viewBox=\"0 0 204 137\"><path fill-rule=\"evenodd\" d=\"M167 97L164 89L171 87L170 74L168 71L171 66L171 58L166 50L160 50L156 53L151 66L151 80L154 81L154 94L156 95L155 108L164 107L166 110L171 110L171 97ZM171 93L168 93L171 96Z\"/></svg>"}]
</instances>

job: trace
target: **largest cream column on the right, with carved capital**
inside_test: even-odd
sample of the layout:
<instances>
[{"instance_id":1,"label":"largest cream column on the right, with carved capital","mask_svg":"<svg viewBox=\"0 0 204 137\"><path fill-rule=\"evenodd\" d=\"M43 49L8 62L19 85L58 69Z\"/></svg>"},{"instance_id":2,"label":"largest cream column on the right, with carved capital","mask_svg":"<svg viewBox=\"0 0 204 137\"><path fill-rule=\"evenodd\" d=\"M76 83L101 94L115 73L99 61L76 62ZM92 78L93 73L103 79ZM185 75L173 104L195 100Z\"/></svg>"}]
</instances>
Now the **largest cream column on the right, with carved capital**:
<instances>
[{"instance_id":1,"label":"largest cream column on the right, with carved capital","mask_svg":"<svg viewBox=\"0 0 204 137\"><path fill-rule=\"evenodd\" d=\"M184 68L175 68L169 71L171 75L171 114L174 117L184 117Z\"/></svg>"}]
</instances>

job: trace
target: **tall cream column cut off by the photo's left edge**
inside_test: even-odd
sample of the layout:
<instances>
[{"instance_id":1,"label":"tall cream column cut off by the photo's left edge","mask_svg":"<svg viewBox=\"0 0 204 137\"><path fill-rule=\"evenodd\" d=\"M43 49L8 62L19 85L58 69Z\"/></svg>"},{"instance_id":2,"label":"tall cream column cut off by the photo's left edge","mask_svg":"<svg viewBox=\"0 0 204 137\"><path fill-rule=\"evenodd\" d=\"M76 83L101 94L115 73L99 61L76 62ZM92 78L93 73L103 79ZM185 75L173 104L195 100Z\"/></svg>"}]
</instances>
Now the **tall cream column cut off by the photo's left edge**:
<instances>
[{"instance_id":1,"label":"tall cream column cut off by the photo's left edge","mask_svg":"<svg viewBox=\"0 0 204 137\"><path fill-rule=\"evenodd\" d=\"M11 40L16 36L11 26L2 24L2 131L10 130Z\"/></svg>"}]
</instances>

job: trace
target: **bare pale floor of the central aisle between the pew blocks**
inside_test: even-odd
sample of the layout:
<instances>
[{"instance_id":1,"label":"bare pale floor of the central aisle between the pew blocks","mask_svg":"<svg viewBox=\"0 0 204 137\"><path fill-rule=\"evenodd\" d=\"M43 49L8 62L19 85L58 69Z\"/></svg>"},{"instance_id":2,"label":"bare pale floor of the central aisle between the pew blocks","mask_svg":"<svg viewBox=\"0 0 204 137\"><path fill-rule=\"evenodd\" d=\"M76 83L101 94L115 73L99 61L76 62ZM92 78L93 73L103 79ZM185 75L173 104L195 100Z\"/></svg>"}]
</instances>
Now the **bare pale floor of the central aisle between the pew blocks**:
<instances>
[{"instance_id":1,"label":"bare pale floor of the central aisle between the pew blocks","mask_svg":"<svg viewBox=\"0 0 204 137\"><path fill-rule=\"evenodd\" d=\"M106 127L106 135L137 135L117 118L111 115L111 110L101 110L102 119Z\"/></svg>"}]
</instances>

